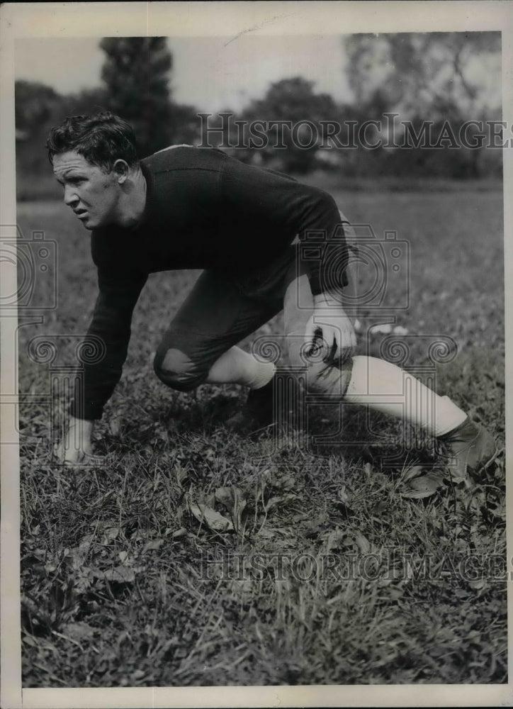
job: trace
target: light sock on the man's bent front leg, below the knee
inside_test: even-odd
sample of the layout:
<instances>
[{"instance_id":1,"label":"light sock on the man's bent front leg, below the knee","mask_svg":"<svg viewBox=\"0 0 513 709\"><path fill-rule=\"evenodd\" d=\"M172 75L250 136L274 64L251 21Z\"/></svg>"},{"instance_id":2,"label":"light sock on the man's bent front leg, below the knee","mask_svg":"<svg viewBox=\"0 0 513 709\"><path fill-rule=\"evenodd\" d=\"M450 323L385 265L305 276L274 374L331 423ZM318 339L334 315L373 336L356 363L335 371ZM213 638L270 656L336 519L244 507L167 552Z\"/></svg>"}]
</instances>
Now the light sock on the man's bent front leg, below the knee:
<instances>
[{"instance_id":1,"label":"light sock on the man's bent front leg, below the knee","mask_svg":"<svg viewBox=\"0 0 513 709\"><path fill-rule=\"evenodd\" d=\"M272 362L259 362L240 347L230 347L210 367L207 381L210 384L243 384L250 389L261 389L269 384L275 372Z\"/></svg>"}]
</instances>

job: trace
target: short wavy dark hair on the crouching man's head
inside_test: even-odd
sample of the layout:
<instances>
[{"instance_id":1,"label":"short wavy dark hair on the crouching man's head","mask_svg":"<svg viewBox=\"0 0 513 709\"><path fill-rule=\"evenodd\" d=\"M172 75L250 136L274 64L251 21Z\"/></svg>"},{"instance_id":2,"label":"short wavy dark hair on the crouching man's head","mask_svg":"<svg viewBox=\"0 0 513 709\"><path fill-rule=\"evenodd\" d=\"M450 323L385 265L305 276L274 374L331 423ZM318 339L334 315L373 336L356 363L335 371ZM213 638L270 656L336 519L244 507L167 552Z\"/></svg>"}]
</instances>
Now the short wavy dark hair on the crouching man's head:
<instances>
[{"instance_id":1,"label":"short wavy dark hair on the crouching man's head","mask_svg":"<svg viewBox=\"0 0 513 709\"><path fill-rule=\"evenodd\" d=\"M94 116L67 116L46 141L48 160L61 152L74 150L91 164L111 172L116 160L130 166L137 163L137 142L133 128L111 111Z\"/></svg>"}]
</instances>

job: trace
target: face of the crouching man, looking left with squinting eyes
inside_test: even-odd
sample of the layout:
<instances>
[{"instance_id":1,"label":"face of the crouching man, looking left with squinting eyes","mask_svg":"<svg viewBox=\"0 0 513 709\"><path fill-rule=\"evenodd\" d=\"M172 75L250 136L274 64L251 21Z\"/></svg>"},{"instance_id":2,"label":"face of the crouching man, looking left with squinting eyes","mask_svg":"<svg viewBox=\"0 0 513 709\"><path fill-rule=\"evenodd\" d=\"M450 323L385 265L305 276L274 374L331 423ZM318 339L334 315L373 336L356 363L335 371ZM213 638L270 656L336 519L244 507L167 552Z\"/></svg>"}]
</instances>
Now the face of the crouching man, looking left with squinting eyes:
<instances>
[{"instance_id":1,"label":"face of the crouching man, looking left with squinting eyes","mask_svg":"<svg viewBox=\"0 0 513 709\"><path fill-rule=\"evenodd\" d=\"M115 223L120 185L114 171L104 172L83 155L70 150L53 157L53 172L64 187L64 203L86 229Z\"/></svg>"}]
</instances>

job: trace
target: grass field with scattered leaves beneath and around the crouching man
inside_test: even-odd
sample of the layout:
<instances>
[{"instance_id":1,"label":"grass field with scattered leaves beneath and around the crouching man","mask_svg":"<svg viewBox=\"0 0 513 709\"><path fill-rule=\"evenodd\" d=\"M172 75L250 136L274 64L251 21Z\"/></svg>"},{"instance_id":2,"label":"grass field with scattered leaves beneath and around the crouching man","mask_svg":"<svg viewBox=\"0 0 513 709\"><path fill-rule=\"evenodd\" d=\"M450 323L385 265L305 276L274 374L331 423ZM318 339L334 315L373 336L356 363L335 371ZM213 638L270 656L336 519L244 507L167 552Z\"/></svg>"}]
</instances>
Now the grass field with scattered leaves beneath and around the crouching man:
<instances>
[{"instance_id":1,"label":"grass field with scattered leaves beneath and around the crouching man","mask_svg":"<svg viewBox=\"0 0 513 709\"><path fill-rule=\"evenodd\" d=\"M23 686L507 681L502 194L333 194L354 223L410 242L411 304L395 320L408 364L429 364L412 335L453 337L458 356L437 366L436 386L494 433L495 466L471 487L416 497L413 466L436 472L441 460L419 434L424 452L385 464L401 430L383 417L347 416L346 442L372 425L365 454L316 443L333 425L322 410L305 442L293 430L280 445L227 432L241 389L177 393L152 372L197 275L174 272L150 277L137 303L123 379L96 430L104 464L62 469L37 398L50 394L49 365L26 345L69 335L57 364L74 363L96 274L89 235L64 206L21 203L26 237L57 242L59 286L57 309L20 329ZM278 316L262 331L280 327Z\"/></svg>"}]
</instances>

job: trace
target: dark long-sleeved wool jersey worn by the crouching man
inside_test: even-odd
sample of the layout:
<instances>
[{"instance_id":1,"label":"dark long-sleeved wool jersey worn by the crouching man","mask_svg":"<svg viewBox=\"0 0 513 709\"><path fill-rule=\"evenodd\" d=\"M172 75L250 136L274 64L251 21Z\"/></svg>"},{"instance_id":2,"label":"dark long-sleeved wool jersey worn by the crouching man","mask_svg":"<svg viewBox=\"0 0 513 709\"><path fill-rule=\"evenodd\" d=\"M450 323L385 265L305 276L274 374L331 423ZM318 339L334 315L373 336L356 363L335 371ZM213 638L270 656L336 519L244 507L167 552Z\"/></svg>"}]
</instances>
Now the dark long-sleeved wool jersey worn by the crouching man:
<instances>
[{"instance_id":1,"label":"dark long-sleeved wool jersey worn by the crouching man","mask_svg":"<svg viewBox=\"0 0 513 709\"><path fill-rule=\"evenodd\" d=\"M304 258L312 292L324 289L329 263L346 284L341 216L322 190L211 148L168 148L142 160L141 169L147 197L137 229L110 225L91 235L99 294L86 339L100 338L104 352L98 362L84 364L70 409L76 418L101 418L120 379L133 309L150 273L215 269L241 279L272 264L298 235L311 242Z\"/></svg>"}]
</instances>

